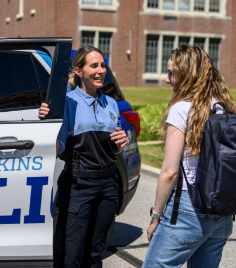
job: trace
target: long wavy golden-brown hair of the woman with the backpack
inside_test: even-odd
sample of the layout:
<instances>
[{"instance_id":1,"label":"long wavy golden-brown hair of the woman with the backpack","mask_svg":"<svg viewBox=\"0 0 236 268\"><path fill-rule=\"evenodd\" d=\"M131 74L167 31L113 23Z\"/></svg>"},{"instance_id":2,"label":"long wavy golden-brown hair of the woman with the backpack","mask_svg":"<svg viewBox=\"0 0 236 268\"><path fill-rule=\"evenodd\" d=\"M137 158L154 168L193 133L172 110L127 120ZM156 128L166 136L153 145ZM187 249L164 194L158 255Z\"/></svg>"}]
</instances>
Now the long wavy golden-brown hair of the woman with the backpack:
<instances>
[{"instance_id":1,"label":"long wavy golden-brown hair of the woman with the backpack","mask_svg":"<svg viewBox=\"0 0 236 268\"><path fill-rule=\"evenodd\" d=\"M165 121L170 108L177 102L191 99L185 129L185 144L189 147L190 155L197 155L200 153L202 132L209 118L212 97L224 103L230 113L236 113L236 106L220 72L199 46L183 45L171 52L171 59L177 83L161 122L161 132L166 138Z\"/></svg>"}]
</instances>

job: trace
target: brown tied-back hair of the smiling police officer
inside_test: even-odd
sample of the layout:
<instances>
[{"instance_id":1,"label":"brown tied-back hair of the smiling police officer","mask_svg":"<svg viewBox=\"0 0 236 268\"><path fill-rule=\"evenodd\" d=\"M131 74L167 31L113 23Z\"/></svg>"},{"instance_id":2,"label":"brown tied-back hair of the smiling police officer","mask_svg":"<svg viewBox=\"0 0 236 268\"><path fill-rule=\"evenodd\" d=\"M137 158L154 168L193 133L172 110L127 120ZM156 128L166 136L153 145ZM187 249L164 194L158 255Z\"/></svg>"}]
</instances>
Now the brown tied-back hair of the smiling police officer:
<instances>
[{"instance_id":1,"label":"brown tied-back hair of the smiling police officer","mask_svg":"<svg viewBox=\"0 0 236 268\"><path fill-rule=\"evenodd\" d=\"M75 90L75 88L81 84L80 77L75 74L75 67L79 67L82 69L84 65L86 64L86 57L90 52L96 51L102 55L101 50L99 50L96 47L92 46L86 46L86 47L81 47L77 53L75 54L75 57L72 61L72 72L69 73L68 76L68 83L69 83L69 88L71 90Z\"/></svg>"}]
</instances>

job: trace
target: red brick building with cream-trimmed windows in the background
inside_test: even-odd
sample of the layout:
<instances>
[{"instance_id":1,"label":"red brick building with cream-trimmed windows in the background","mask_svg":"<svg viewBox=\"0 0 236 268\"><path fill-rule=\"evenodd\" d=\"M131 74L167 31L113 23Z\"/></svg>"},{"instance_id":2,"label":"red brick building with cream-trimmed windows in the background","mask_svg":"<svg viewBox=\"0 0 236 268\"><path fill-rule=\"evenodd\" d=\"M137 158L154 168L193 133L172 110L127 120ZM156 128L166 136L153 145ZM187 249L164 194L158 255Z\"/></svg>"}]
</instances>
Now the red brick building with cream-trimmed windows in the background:
<instances>
[{"instance_id":1,"label":"red brick building with cream-trimmed windows in the background","mask_svg":"<svg viewBox=\"0 0 236 268\"><path fill-rule=\"evenodd\" d=\"M236 88L235 0L1 0L0 36L99 47L121 86L165 84L169 53L203 47Z\"/></svg>"}]
</instances>

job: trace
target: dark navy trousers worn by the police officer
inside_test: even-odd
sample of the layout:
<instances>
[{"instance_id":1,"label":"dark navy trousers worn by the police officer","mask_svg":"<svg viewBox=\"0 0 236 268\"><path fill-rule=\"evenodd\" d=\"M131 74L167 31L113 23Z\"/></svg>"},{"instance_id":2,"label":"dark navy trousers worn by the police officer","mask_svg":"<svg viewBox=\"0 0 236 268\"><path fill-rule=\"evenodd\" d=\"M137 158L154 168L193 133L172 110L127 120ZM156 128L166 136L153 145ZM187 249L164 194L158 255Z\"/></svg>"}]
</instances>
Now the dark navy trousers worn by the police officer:
<instances>
[{"instance_id":1,"label":"dark navy trousers worn by the police officer","mask_svg":"<svg viewBox=\"0 0 236 268\"><path fill-rule=\"evenodd\" d=\"M63 171L58 180L58 268L100 268L117 209L117 176L77 178L77 184L64 183L66 179Z\"/></svg>"}]
</instances>

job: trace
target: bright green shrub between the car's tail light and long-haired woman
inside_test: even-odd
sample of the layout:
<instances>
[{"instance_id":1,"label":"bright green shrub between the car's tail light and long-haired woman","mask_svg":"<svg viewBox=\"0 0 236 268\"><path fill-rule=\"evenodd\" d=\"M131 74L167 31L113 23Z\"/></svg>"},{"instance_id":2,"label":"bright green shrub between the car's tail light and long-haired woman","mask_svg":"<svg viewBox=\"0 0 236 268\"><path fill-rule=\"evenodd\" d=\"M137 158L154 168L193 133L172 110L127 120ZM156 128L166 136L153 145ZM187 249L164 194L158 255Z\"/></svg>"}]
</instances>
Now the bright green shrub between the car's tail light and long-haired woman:
<instances>
[{"instance_id":1,"label":"bright green shrub between the car's tail light and long-haired woman","mask_svg":"<svg viewBox=\"0 0 236 268\"><path fill-rule=\"evenodd\" d=\"M144 132L158 135L165 108L168 103L148 104L138 110L140 127Z\"/></svg>"}]
</instances>

